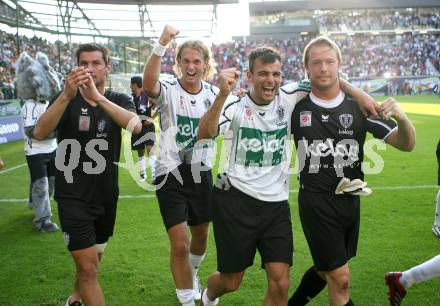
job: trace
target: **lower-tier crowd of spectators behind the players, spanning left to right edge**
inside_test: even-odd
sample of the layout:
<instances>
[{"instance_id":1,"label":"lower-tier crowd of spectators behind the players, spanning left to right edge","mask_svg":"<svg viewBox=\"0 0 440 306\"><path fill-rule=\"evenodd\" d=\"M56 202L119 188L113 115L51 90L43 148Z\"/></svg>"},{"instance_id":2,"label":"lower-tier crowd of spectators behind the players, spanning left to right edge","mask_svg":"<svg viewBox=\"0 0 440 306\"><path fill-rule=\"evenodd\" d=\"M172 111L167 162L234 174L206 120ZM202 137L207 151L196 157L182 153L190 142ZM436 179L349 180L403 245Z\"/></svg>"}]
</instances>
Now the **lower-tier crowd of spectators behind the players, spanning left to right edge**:
<instances>
[{"instance_id":1,"label":"lower-tier crowd of spectators behind the players, spanning left to right edge","mask_svg":"<svg viewBox=\"0 0 440 306\"><path fill-rule=\"evenodd\" d=\"M11 99L16 96L14 80L18 46L15 35L2 31L0 34L0 99ZM257 45L272 45L283 55L284 79L298 81L304 78L302 50L312 38L233 41L213 45L211 49L217 69L236 67L246 71L250 50ZM343 54L342 72L349 77L439 75L440 34L338 35L333 38ZM74 66L74 49L73 44L52 44L41 38L20 36L20 51L31 55L38 51L46 53L51 65L64 75ZM174 74L174 58L175 48L172 47L162 59L162 72ZM243 77L242 86L246 86L244 82Z\"/></svg>"}]
</instances>

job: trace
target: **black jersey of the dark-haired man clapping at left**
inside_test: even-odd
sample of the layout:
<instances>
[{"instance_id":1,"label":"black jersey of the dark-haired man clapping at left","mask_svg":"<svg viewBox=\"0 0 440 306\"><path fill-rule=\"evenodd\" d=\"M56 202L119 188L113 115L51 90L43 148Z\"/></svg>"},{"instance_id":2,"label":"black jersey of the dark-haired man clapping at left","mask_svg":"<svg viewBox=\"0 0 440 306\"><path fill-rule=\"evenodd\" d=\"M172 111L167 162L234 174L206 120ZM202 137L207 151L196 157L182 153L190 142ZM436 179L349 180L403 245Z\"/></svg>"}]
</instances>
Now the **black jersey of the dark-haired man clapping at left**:
<instances>
[{"instance_id":1,"label":"black jersey of the dark-haired man clapping at left","mask_svg":"<svg viewBox=\"0 0 440 306\"><path fill-rule=\"evenodd\" d=\"M109 90L104 96L135 112L130 96ZM118 167L115 162L120 156L121 128L99 106L88 104L78 92L60 119L57 139L55 199L76 199L86 203L117 199ZM72 168L77 164L71 175L60 167L61 161ZM99 163L105 167L97 167Z\"/></svg>"}]
</instances>

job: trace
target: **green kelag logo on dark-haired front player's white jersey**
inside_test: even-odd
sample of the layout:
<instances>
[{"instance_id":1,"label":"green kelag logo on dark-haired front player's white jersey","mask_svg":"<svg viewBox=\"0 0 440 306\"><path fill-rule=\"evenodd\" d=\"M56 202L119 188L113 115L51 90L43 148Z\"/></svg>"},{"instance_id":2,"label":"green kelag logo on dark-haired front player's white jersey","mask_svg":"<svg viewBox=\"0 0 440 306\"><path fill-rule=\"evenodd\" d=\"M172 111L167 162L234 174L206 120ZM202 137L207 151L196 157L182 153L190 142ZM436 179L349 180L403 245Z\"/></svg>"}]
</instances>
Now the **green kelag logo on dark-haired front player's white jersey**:
<instances>
[{"instance_id":1,"label":"green kelag logo on dark-haired front player's white jersey","mask_svg":"<svg viewBox=\"0 0 440 306\"><path fill-rule=\"evenodd\" d=\"M287 129L263 132L241 127L238 131L235 162L238 165L268 167L285 160Z\"/></svg>"}]
</instances>

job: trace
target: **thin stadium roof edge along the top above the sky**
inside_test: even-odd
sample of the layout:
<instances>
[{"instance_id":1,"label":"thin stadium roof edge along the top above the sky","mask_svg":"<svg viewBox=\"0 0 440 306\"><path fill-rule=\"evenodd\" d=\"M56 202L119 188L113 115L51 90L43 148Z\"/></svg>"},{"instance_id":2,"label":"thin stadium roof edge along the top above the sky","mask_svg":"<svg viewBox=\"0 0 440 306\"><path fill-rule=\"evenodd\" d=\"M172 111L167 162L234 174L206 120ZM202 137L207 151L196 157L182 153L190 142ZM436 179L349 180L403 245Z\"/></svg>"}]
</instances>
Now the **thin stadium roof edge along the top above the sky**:
<instances>
[{"instance_id":1,"label":"thin stadium roof edge along the top above the sky","mask_svg":"<svg viewBox=\"0 0 440 306\"><path fill-rule=\"evenodd\" d=\"M212 5L212 4L231 4L238 3L238 0L77 0L78 3L95 3L95 4L118 4L118 5Z\"/></svg>"}]
</instances>

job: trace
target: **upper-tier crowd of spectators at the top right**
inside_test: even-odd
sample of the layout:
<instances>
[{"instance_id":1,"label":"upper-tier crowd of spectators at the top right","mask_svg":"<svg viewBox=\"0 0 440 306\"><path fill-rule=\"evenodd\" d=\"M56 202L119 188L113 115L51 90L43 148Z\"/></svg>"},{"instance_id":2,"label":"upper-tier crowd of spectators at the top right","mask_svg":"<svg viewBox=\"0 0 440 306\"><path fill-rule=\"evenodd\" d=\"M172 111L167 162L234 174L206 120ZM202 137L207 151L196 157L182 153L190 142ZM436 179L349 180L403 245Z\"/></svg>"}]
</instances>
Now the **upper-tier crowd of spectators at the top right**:
<instances>
[{"instance_id":1,"label":"upper-tier crowd of spectators at the top right","mask_svg":"<svg viewBox=\"0 0 440 306\"><path fill-rule=\"evenodd\" d=\"M371 31L394 29L440 29L440 10L417 13L411 11L327 11L315 15L321 31Z\"/></svg>"}]
</instances>

